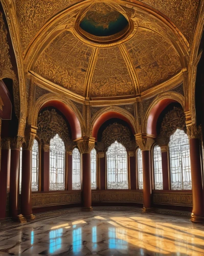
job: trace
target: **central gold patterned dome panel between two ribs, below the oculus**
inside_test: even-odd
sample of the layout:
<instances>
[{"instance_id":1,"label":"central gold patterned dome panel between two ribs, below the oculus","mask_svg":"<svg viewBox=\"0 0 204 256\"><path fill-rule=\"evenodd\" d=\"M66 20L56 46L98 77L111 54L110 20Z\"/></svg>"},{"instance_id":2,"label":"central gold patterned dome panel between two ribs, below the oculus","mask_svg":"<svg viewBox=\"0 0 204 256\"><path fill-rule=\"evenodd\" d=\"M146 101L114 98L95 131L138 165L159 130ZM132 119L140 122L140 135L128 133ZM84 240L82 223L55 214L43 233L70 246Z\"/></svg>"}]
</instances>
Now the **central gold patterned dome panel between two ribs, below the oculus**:
<instances>
[{"instance_id":1,"label":"central gold patterned dome panel between two ribs, below the oculus","mask_svg":"<svg viewBox=\"0 0 204 256\"><path fill-rule=\"evenodd\" d=\"M90 97L133 95L133 87L119 47L99 49Z\"/></svg>"}]
</instances>

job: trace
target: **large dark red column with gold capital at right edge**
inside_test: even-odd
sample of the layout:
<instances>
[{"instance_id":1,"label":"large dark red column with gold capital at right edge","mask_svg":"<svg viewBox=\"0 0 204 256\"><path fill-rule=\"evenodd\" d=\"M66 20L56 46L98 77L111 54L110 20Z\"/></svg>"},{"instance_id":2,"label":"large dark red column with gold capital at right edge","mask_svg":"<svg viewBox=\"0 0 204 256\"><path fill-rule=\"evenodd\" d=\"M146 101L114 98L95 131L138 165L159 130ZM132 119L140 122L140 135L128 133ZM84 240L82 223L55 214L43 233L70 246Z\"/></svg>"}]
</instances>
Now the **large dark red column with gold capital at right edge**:
<instances>
[{"instance_id":1,"label":"large dark red column with gold capital at right edge","mask_svg":"<svg viewBox=\"0 0 204 256\"><path fill-rule=\"evenodd\" d=\"M200 134L201 130L195 125L187 126L190 144L191 178L193 193L193 210L191 221L204 223L204 198L202 185L202 168L200 161Z\"/></svg>"}]
</instances>

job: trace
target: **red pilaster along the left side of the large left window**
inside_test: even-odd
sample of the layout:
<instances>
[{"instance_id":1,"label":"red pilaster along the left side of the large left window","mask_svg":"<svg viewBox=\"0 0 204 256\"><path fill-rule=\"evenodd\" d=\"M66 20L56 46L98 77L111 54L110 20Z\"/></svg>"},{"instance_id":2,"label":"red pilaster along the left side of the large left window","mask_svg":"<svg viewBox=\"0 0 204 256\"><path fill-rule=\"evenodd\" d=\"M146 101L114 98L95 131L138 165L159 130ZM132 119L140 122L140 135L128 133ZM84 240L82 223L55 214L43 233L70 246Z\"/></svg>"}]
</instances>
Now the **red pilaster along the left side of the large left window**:
<instances>
[{"instance_id":1,"label":"red pilaster along the left side of the large left window","mask_svg":"<svg viewBox=\"0 0 204 256\"><path fill-rule=\"evenodd\" d=\"M50 146L44 144L41 151L41 191L49 191Z\"/></svg>"}]
</instances>

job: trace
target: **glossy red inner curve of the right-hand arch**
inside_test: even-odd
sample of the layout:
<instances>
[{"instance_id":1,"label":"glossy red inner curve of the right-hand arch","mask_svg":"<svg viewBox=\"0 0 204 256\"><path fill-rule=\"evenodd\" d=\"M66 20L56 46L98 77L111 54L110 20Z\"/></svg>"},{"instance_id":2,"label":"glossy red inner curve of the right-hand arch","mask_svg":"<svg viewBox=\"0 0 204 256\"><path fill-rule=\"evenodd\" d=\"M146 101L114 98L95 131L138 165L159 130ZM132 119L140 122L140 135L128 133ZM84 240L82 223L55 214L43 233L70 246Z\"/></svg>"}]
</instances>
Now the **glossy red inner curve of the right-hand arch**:
<instances>
[{"instance_id":1,"label":"glossy red inner curve of the right-hand arch","mask_svg":"<svg viewBox=\"0 0 204 256\"><path fill-rule=\"evenodd\" d=\"M178 102L178 101L173 99L162 99L153 107L147 119L147 134L157 136L157 133L156 133L157 119L162 113L162 111L172 102Z\"/></svg>"}]
</instances>

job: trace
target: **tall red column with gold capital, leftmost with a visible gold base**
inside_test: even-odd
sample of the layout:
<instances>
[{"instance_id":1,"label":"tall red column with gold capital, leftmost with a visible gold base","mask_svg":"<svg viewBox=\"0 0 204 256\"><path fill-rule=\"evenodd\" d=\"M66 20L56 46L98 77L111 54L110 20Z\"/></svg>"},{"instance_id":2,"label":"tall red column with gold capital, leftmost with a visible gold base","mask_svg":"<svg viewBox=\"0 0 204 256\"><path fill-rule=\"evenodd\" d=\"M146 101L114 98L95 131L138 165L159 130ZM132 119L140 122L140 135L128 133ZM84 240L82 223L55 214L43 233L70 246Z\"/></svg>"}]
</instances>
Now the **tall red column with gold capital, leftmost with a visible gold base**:
<instances>
[{"instance_id":1,"label":"tall red column with gold capital, leftmost with a visible gold base","mask_svg":"<svg viewBox=\"0 0 204 256\"><path fill-rule=\"evenodd\" d=\"M10 163L10 193L9 193L9 211L10 216L14 220L21 223L26 222L26 219L19 215L19 160L20 147L24 138L17 136L10 139L11 148L11 163Z\"/></svg>"}]
</instances>

